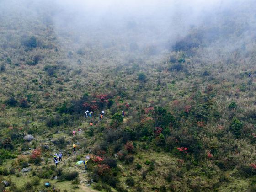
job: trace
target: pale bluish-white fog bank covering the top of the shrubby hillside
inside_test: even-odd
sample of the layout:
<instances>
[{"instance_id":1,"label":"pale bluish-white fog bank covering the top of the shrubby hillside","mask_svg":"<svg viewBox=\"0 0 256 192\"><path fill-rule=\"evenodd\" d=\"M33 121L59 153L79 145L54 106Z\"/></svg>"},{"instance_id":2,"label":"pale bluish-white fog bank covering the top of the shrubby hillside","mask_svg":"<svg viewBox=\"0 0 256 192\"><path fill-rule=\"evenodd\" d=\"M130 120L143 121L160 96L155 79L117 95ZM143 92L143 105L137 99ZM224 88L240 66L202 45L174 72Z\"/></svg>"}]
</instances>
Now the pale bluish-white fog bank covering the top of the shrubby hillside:
<instances>
[{"instance_id":1,"label":"pale bluish-white fog bank covering the top of the shrubby hillside","mask_svg":"<svg viewBox=\"0 0 256 192\"><path fill-rule=\"evenodd\" d=\"M1 0L0 21L40 35L38 23L52 26L62 46L91 45L155 53L170 51L192 29L229 25L223 16L247 24L242 35L251 40L255 17L240 9L255 10L255 0ZM254 5L254 6L250 6ZM230 11L231 10L231 11ZM250 10L249 10L250 11ZM220 14L221 13L221 14ZM226 15L225 15L226 14ZM11 19L10 19L11 18ZM240 21L240 20L245 21ZM5 22L4 22L5 21ZM9 22L10 21L10 22ZM233 21L232 21L233 22ZM233 23L236 25L236 23ZM3 26L2 26L3 27ZM236 26L234 26L236 27ZM14 27L15 28L15 27ZM212 36L214 31L208 34ZM250 34L250 35L249 35ZM222 34L220 34L221 36Z\"/></svg>"}]
</instances>

